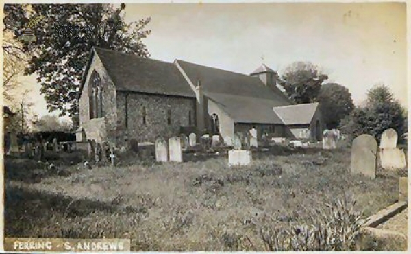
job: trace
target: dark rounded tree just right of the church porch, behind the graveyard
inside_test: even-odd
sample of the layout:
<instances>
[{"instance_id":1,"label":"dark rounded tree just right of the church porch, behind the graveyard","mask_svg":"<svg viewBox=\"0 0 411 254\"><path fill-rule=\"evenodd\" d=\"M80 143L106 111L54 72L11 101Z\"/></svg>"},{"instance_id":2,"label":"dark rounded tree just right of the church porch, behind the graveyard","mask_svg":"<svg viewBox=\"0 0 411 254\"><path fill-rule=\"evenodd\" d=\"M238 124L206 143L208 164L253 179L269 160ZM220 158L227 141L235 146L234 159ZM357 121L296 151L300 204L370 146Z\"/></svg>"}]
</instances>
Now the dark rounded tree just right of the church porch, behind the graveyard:
<instances>
[{"instance_id":1,"label":"dark rounded tree just right of the church porch, behind the graveyard","mask_svg":"<svg viewBox=\"0 0 411 254\"><path fill-rule=\"evenodd\" d=\"M327 128L337 128L341 119L354 109L353 99L349 90L340 84L328 83L321 86L317 101Z\"/></svg>"}]
</instances>

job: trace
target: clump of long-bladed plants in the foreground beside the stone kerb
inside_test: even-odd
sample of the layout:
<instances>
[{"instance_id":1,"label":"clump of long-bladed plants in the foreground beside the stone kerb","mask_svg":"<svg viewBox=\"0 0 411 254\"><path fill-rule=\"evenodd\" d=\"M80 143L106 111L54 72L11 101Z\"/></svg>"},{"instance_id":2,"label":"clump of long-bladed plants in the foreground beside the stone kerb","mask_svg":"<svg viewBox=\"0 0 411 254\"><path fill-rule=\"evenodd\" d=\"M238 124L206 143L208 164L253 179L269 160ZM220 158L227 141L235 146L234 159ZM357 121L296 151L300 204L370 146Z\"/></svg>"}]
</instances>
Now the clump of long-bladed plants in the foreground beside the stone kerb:
<instances>
[{"instance_id":1,"label":"clump of long-bladed plants in the foreground beside the stone kerb","mask_svg":"<svg viewBox=\"0 0 411 254\"><path fill-rule=\"evenodd\" d=\"M260 235L267 251L352 251L360 236L362 215L346 197L322 204L309 220L297 218L289 229L263 227Z\"/></svg>"}]
</instances>

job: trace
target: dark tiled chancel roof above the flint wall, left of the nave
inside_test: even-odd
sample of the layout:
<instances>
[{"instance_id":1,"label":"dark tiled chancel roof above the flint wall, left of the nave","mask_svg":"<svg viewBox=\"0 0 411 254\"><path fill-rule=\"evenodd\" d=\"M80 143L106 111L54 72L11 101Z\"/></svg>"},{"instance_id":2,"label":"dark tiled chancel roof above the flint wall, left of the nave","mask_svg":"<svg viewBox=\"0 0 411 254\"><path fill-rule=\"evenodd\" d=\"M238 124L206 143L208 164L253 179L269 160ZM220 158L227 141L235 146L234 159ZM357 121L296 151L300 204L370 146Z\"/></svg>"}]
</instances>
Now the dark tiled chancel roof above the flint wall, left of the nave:
<instances>
[{"instance_id":1,"label":"dark tiled chancel roof above the flint wall, left of the nave","mask_svg":"<svg viewBox=\"0 0 411 254\"><path fill-rule=\"evenodd\" d=\"M119 90L195 97L173 63L98 47L95 51Z\"/></svg>"}]
</instances>

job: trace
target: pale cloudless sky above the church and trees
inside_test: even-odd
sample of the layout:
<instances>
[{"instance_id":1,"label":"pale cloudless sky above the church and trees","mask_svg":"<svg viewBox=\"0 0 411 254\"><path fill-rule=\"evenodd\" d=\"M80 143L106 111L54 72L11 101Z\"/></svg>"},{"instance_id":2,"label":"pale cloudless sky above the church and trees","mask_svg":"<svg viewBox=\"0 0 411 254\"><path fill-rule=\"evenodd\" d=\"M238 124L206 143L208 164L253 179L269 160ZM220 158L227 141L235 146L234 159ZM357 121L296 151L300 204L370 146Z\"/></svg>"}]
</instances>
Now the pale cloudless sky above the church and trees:
<instances>
[{"instance_id":1,"label":"pale cloudless sky above the church and trees","mask_svg":"<svg viewBox=\"0 0 411 254\"><path fill-rule=\"evenodd\" d=\"M405 3L127 4L125 20L151 17L151 58L180 59L249 74L263 62L282 74L309 61L327 82L346 86L356 104L384 83L407 106ZM34 77L32 108L47 114Z\"/></svg>"}]
</instances>

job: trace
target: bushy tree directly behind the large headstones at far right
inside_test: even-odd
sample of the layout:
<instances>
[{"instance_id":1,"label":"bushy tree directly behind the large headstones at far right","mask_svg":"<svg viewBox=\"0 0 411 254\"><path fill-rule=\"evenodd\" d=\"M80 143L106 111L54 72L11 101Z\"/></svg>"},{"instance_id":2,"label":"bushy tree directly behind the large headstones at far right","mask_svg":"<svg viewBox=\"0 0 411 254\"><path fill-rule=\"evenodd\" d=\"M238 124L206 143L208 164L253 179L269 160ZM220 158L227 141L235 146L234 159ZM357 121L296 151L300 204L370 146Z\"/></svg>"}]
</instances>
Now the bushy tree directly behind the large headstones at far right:
<instances>
[{"instance_id":1,"label":"bushy tree directly behind the large headstones at far right","mask_svg":"<svg viewBox=\"0 0 411 254\"><path fill-rule=\"evenodd\" d=\"M397 131L399 141L407 132L406 110L393 96L387 86L379 84L367 93L364 107L353 110L342 122L343 130L353 137L369 134L377 141L381 140L384 130L393 128Z\"/></svg>"}]
</instances>

